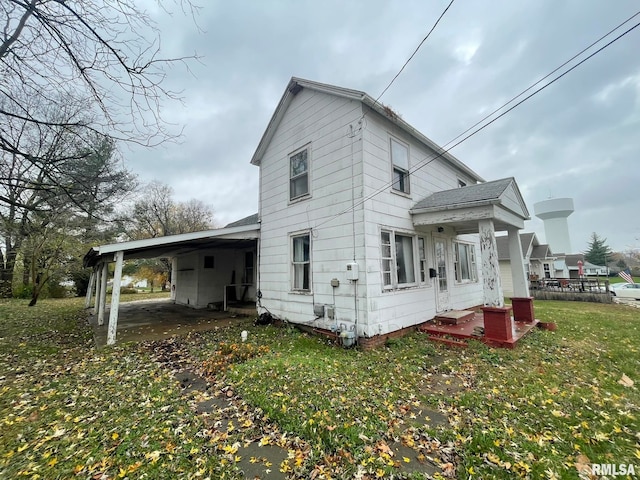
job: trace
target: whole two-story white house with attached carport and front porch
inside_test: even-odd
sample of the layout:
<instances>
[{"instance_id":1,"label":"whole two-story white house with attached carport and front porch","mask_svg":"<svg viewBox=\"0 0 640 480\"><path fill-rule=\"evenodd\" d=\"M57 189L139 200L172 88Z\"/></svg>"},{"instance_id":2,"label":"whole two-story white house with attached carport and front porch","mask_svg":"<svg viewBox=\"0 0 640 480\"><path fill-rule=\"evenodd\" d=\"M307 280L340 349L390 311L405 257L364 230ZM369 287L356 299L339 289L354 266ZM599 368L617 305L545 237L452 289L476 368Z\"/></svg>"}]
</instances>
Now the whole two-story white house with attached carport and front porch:
<instances>
[{"instance_id":1,"label":"whole two-story white house with attached carport and front porch","mask_svg":"<svg viewBox=\"0 0 640 480\"><path fill-rule=\"evenodd\" d=\"M515 295L529 296L516 181L484 182L364 92L292 78L251 163L257 216L149 241L160 243L147 255L174 257L176 302L206 306L234 285L258 313L384 336L447 310L502 307L496 231L508 232ZM86 263L145 248L132 243Z\"/></svg>"}]
</instances>

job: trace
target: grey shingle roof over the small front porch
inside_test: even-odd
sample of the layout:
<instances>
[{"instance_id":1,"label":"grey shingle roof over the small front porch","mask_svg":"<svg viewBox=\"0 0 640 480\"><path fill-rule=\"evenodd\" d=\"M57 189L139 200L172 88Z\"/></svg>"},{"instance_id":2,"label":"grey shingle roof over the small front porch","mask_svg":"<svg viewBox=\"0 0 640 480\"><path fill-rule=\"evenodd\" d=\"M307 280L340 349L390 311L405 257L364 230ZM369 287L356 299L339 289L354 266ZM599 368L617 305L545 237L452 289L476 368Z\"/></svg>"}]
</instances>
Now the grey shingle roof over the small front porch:
<instances>
[{"instance_id":1,"label":"grey shingle roof over the small front porch","mask_svg":"<svg viewBox=\"0 0 640 480\"><path fill-rule=\"evenodd\" d=\"M451 190L442 190L423 198L413 206L412 210L491 202L498 200L512 182L515 182L515 179L509 177Z\"/></svg>"}]
</instances>

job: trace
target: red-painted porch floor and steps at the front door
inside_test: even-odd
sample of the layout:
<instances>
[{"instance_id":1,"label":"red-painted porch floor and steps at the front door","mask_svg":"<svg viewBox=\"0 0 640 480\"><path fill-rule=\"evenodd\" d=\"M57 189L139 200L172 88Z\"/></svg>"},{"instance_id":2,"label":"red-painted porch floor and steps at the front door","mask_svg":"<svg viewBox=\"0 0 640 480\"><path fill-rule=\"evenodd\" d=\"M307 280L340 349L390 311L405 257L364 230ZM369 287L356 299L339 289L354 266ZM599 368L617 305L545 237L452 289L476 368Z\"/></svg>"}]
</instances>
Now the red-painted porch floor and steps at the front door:
<instances>
[{"instance_id":1,"label":"red-painted porch floor and steps at the front door","mask_svg":"<svg viewBox=\"0 0 640 480\"><path fill-rule=\"evenodd\" d=\"M493 347L514 348L522 337L537 327L538 323L538 320L530 323L513 321L511 339L487 338L484 335L484 314L475 312L473 317L457 325L431 321L423 324L420 331L428 333L430 340L449 345L464 347L467 346L467 340L475 339Z\"/></svg>"}]
</instances>

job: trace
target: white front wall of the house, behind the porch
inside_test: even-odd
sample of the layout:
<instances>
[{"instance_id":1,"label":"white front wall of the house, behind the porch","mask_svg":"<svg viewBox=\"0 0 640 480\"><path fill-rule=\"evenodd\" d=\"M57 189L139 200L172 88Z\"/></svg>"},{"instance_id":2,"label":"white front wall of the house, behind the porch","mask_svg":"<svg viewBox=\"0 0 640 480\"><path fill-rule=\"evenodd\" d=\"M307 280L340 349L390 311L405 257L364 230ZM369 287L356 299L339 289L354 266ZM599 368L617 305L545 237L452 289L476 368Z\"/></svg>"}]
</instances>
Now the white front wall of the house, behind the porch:
<instances>
[{"instance_id":1,"label":"white front wall of the house, behind the porch","mask_svg":"<svg viewBox=\"0 0 640 480\"><path fill-rule=\"evenodd\" d=\"M392 165L389 154L392 136L409 145L409 169L413 170L425 159L434 156L431 150L417 144L401 129L390 121L370 113L366 119L364 132L364 170L365 197L382 190L365 204L366 232L365 244L367 252L367 300L368 300L368 335L384 334L399 328L415 325L430 320L436 315L436 288L433 279L428 279L415 287L384 291L382 285L382 261L380 247L380 231L388 228L399 233L423 236L427 241L427 264L434 268L433 230L416 232L409 210L422 198L433 192L458 187L462 180L471 184L471 180L450 167L444 160L437 159L424 168L410 175L410 193L404 195L392 190ZM448 277L450 304L452 309L462 309L482 304L482 279L478 268L478 281L473 283L456 283L454 279L455 232L445 227L438 234L447 242ZM464 236L460 240L474 240L475 236ZM414 248L416 259L416 278L419 280L418 250ZM476 244L476 262L479 265L480 250Z\"/></svg>"}]
</instances>

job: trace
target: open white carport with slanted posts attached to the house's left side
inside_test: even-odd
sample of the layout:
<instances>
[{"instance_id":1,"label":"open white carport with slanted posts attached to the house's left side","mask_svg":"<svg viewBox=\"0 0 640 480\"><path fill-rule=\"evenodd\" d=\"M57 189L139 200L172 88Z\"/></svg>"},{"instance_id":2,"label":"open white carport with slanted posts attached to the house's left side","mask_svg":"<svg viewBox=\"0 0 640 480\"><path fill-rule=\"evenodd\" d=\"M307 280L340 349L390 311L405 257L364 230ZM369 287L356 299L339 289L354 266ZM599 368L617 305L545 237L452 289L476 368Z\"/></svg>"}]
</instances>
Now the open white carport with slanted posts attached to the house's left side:
<instances>
[{"instance_id":1,"label":"open white carport with slanted posts attached to the house's left side","mask_svg":"<svg viewBox=\"0 0 640 480\"><path fill-rule=\"evenodd\" d=\"M171 258L171 300L196 309L226 308L228 296L255 301L260 225L252 215L225 228L93 247L84 257L92 268L85 306L94 309L104 325L108 265L115 263L107 344L116 342L120 287L124 260Z\"/></svg>"}]
</instances>

